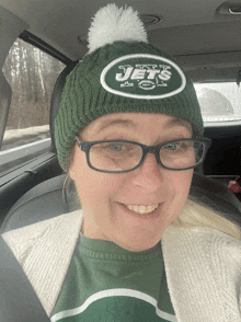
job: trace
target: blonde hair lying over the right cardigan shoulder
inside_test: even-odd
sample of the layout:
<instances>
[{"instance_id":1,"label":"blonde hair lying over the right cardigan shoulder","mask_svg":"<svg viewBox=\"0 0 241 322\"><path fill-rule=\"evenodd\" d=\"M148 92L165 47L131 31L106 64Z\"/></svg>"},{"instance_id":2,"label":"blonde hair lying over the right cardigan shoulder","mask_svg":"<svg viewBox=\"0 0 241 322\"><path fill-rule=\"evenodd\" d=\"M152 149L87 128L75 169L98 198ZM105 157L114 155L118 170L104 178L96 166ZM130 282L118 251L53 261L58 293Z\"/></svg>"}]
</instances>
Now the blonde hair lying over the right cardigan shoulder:
<instances>
[{"instance_id":1,"label":"blonde hair lying over the right cardigan shoulder","mask_svg":"<svg viewBox=\"0 0 241 322\"><path fill-rule=\"evenodd\" d=\"M210 207L188 198L179 217L172 225L184 228L211 228L241 240L241 229L238 223L232 222L223 216L225 214L221 215Z\"/></svg>"}]
</instances>

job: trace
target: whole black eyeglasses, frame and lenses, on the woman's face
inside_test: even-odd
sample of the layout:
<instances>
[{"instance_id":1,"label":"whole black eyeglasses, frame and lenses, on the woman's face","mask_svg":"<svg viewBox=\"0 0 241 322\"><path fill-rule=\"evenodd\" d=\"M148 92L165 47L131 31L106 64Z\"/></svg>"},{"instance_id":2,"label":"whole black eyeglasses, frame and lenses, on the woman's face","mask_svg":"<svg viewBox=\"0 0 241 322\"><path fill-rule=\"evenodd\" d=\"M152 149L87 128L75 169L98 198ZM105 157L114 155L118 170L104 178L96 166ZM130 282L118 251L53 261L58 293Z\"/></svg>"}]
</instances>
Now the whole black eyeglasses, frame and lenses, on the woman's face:
<instances>
[{"instance_id":1,"label":"whole black eyeglasses, frame and lenses, on the woman's face","mask_svg":"<svg viewBox=\"0 0 241 322\"><path fill-rule=\"evenodd\" d=\"M134 171L144 162L147 153L154 153L157 162L164 169L183 171L199 165L211 140L192 138L167 141L157 146L145 146L127 140L81 141L74 138L87 154L88 165L100 172L123 173Z\"/></svg>"}]
</instances>

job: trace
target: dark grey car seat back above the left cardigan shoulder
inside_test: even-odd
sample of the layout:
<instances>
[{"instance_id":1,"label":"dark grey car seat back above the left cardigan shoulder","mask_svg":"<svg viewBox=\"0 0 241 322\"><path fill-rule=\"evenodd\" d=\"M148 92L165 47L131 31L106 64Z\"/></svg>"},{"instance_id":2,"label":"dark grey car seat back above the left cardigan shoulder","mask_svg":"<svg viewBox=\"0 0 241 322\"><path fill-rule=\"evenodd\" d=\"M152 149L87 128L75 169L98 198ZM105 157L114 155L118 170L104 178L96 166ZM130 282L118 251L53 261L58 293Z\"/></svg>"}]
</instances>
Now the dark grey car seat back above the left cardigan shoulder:
<instances>
[{"instance_id":1,"label":"dark grey car seat back above the left cardigan shoulder","mask_svg":"<svg viewBox=\"0 0 241 322\"><path fill-rule=\"evenodd\" d=\"M44 221L81 208L73 181L61 174L23 195L5 216L0 233Z\"/></svg>"}]
</instances>

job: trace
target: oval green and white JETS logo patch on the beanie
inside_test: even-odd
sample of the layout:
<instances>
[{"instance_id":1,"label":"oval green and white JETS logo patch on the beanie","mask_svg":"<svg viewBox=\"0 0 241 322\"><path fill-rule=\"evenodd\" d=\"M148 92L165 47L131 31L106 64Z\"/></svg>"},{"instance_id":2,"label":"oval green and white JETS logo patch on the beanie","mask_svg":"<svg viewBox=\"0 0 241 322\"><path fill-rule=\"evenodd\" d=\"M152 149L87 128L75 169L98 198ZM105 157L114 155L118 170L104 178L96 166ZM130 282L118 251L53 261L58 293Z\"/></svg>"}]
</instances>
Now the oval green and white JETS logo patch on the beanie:
<instances>
[{"instance_id":1,"label":"oval green and white JETS logo patch on the beanie","mask_svg":"<svg viewBox=\"0 0 241 322\"><path fill-rule=\"evenodd\" d=\"M101 73L101 84L116 95L157 100L182 92L186 78L180 67L168 58L136 54L108 64Z\"/></svg>"}]
</instances>

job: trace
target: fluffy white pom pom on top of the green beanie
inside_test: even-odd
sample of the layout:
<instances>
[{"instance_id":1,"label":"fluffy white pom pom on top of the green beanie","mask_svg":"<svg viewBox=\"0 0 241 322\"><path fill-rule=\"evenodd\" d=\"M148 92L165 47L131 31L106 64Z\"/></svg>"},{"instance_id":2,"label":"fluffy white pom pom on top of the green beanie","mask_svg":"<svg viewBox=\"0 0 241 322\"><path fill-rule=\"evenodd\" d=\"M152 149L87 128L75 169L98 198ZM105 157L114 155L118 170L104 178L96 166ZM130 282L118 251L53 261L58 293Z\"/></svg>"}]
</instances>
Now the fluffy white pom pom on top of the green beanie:
<instances>
[{"instance_id":1,"label":"fluffy white pom pom on top of the green beanie","mask_svg":"<svg viewBox=\"0 0 241 322\"><path fill-rule=\"evenodd\" d=\"M88 41L89 54L117 41L148 43L147 32L138 12L131 7L117 8L114 3L96 12Z\"/></svg>"}]
</instances>

